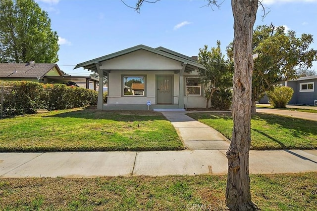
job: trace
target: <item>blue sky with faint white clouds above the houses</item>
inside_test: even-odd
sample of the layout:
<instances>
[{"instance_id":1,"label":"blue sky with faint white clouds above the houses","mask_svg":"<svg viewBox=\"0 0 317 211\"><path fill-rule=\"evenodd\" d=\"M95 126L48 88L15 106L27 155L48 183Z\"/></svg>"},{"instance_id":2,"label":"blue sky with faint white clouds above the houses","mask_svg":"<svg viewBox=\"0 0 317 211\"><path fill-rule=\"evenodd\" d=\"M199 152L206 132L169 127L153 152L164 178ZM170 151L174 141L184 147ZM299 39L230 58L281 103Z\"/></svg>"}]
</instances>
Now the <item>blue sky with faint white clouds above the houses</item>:
<instances>
[{"instance_id":1,"label":"blue sky with faint white clouds above the houses","mask_svg":"<svg viewBox=\"0 0 317 211\"><path fill-rule=\"evenodd\" d=\"M163 46L179 53L198 55L207 44L221 48L233 40L231 0L220 8L207 7L206 0L160 0L144 3L140 14L121 0L36 0L49 13L52 30L59 36L58 66L67 74L85 76L78 63L138 44ZM221 0L219 0L221 1ZM136 0L125 0L134 6ZM285 26L300 36L312 34L317 49L317 0L263 0L269 13L263 19L259 7L258 25ZM317 64L313 69L317 70Z\"/></svg>"}]
</instances>

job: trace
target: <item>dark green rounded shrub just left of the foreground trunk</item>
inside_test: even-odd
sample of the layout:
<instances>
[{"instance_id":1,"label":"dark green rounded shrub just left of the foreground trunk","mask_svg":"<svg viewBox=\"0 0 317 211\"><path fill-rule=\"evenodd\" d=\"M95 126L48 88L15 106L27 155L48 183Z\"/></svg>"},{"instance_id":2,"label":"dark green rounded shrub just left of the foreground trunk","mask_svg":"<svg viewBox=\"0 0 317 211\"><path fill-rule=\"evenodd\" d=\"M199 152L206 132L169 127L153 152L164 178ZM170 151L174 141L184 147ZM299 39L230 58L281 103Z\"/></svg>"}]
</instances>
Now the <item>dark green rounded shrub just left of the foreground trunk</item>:
<instances>
[{"instance_id":1,"label":"dark green rounded shrub just left of the foreground trunk","mask_svg":"<svg viewBox=\"0 0 317 211\"><path fill-rule=\"evenodd\" d=\"M232 91L229 88L215 90L211 97L211 108L228 110L232 104Z\"/></svg>"}]
</instances>

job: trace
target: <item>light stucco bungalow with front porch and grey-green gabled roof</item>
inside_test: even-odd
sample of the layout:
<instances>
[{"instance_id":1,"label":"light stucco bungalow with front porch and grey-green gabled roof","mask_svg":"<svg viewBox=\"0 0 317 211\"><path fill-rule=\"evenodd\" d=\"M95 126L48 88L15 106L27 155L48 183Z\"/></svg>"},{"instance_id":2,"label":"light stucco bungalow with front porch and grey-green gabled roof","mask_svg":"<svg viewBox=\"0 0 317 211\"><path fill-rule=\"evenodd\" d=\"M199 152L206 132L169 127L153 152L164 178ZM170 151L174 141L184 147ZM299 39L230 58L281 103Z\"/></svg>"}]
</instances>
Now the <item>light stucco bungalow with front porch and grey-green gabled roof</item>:
<instances>
[{"instance_id":1,"label":"light stucco bungalow with front porch and grey-green gabled roof","mask_svg":"<svg viewBox=\"0 0 317 211\"><path fill-rule=\"evenodd\" d=\"M197 58L164 47L137 45L80 64L107 76L107 104L99 88L98 109L184 109L205 107L204 89L198 69L204 68ZM205 69L205 68L204 68ZM102 85L100 86L102 87Z\"/></svg>"}]
</instances>

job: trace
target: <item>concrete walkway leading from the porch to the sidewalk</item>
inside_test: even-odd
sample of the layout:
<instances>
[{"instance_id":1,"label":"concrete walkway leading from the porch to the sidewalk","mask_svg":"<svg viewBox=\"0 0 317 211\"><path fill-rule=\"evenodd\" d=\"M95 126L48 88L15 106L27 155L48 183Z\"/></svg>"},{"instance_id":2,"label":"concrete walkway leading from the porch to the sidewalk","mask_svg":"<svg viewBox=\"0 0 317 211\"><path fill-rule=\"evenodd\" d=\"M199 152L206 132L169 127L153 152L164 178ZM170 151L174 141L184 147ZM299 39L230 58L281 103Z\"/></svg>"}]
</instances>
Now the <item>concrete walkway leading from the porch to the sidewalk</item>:
<instances>
[{"instance_id":1,"label":"concrete walkway leading from the porch to the sidewalk","mask_svg":"<svg viewBox=\"0 0 317 211\"><path fill-rule=\"evenodd\" d=\"M175 127L188 150L228 149L230 142L217 130L186 115L184 111L161 112Z\"/></svg>"}]
</instances>

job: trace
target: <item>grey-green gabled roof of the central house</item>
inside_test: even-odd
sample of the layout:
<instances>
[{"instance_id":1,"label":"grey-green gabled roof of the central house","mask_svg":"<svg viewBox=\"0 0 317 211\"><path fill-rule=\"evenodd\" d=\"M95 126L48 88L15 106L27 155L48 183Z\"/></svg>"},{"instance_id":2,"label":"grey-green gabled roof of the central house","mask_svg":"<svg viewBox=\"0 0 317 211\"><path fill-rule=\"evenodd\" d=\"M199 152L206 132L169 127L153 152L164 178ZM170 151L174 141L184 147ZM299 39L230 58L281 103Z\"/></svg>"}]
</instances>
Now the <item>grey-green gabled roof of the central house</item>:
<instances>
[{"instance_id":1,"label":"grey-green gabled roof of the central house","mask_svg":"<svg viewBox=\"0 0 317 211\"><path fill-rule=\"evenodd\" d=\"M115 57L122 56L122 55L125 55L128 53L140 50L140 49L147 50L149 52L156 53L158 55L161 55L161 56L164 56L164 57L167 57L167 58L170 58L170 59L182 62L182 63L186 63L189 65L189 68L190 68L190 66L192 66L192 67L196 67L196 68L205 69L205 67L203 65L197 63L196 60L194 60L191 57L185 56L183 54L169 50L167 48L158 47L156 49L156 48L152 48L152 47L149 47L149 46L146 46L143 44L136 45L134 47L130 47L130 48L127 48L127 49L124 49L124 50L121 50L121 51L118 51L115 53L111 53L111 54L108 54L108 55L105 55L105 56L102 56L102 57L99 57L96 59L92 59L92 60L77 64L74 69L79 68L79 67L83 67L84 69L88 69L88 70L96 72L97 71L96 63L103 62L103 61L106 61L109 59L113 59Z\"/></svg>"}]
</instances>

